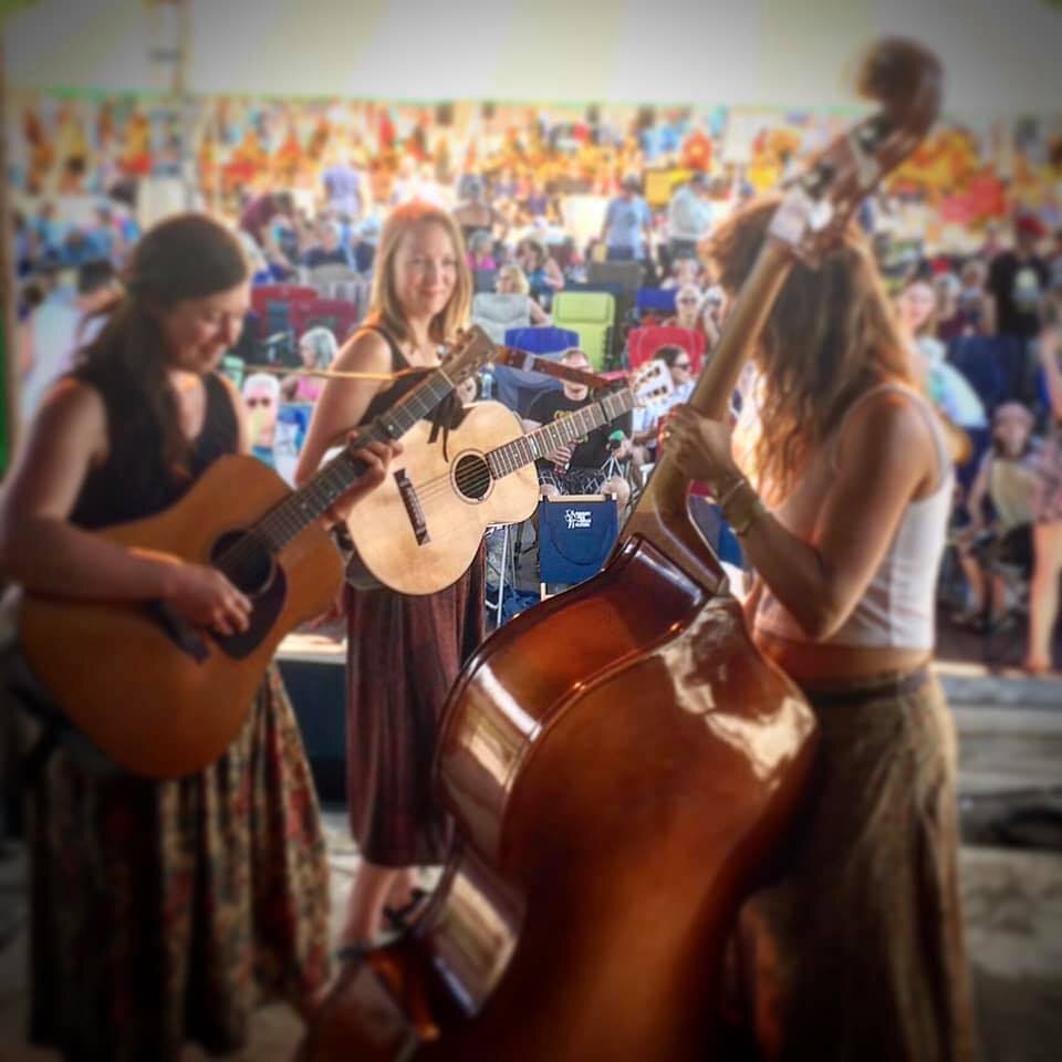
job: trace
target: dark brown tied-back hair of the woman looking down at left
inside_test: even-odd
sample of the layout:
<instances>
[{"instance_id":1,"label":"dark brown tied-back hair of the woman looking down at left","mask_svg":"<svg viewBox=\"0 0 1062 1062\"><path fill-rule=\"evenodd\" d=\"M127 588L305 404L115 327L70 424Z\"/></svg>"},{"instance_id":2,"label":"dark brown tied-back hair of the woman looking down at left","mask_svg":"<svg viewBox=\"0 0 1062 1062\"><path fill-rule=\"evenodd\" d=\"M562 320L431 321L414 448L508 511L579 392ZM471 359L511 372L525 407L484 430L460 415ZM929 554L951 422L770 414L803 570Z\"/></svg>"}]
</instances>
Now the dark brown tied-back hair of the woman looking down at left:
<instances>
[{"instance_id":1,"label":"dark brown tied-back hair of the woman looking down at left","mask_svg":"<svg viewBox=\"0 0 1062 1062\"><path fill-rule=\"evenodd\" d=\"M237 238L201 214L181 214L149 229L133 250L125 294L110 308L103 331L75 361L79 377L108 396L112 435L147 428L160 452L145 458L173 469L185 462L177 396L166 375L160 312L179 302L229 291L249 275Z\"/></svg>"}]
</instances>

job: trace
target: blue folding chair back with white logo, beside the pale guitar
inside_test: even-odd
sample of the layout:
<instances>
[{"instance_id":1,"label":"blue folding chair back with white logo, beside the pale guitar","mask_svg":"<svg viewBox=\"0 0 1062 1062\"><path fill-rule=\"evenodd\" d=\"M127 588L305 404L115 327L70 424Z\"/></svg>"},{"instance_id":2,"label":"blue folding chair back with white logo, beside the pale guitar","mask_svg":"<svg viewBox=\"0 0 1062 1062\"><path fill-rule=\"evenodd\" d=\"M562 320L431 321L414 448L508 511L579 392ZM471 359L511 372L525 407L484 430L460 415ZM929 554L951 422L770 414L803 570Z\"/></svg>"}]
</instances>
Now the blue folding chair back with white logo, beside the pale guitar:
<instances>
[{"instance_id":1,"label":"blue folding chair back with white logo, beside the pale guitar","mask_svg":"<svg viewBox=\"0 0 1062 1062\"><path fill-rule=\"evenodd\" d=\"M572 586L596 575L620 537L620 507L603 494L569 494L539 502L539 581Z\"/></svg>"}]
</instances>

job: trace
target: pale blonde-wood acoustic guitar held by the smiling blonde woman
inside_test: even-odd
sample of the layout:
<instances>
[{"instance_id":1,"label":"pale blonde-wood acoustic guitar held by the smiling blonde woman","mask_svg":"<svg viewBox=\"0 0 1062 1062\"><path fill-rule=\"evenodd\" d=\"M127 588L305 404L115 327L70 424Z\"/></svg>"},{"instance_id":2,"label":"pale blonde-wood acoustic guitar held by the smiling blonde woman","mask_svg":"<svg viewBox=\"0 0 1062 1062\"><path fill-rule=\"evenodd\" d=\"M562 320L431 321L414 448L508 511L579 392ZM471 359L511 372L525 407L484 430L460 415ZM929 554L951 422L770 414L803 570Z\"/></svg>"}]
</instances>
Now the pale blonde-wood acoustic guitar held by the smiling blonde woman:
<instances>
[{"instance_id":1,"label":"pale blonde-wood acoustic guitar held by the smiling blonde woman","mask_svg":"<svg viewBox=\"0 0 1062 1062\"><path fill-rule=\"evenodd\" d=\"M469 406L445 440L429 444L430 426L418 424L388 478L352 513L357 555L347 581L403 594L449 586L468 569L489 524L518 523L534 512L535 460L671 389L667 366L653 361L623 389L528 435L497 402Z\"/></svg>"}]
</instances>

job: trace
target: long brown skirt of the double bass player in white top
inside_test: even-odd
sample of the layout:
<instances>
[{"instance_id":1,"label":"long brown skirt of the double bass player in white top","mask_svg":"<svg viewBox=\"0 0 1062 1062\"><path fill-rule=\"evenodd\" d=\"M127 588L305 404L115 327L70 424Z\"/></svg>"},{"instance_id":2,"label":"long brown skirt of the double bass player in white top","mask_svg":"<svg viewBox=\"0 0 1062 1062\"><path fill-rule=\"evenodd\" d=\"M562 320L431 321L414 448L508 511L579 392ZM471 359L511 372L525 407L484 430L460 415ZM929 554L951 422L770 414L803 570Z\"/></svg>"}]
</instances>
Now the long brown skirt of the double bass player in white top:
<instances>
[{"instance_id":1,"label":"long brown skirt of the double bass player in white top","mask_svg":"<svg viewBox=\"0 0 1062 1062\"><path fill-rule=\"evenodd\" d=\"M806 832L745 904L731 955L757 1058L974 1055L955 725L936 680L912 678L809 693L821 743Z\"/></svg>"}]
</instances>

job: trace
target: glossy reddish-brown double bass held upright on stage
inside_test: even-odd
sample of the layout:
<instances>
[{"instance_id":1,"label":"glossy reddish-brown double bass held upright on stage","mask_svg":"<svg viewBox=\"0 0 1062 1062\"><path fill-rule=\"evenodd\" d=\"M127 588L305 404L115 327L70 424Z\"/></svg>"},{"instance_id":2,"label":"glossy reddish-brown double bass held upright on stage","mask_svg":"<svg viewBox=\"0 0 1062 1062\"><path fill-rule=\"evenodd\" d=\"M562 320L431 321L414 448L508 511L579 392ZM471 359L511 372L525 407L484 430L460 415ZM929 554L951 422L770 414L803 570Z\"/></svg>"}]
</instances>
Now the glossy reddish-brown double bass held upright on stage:
<instances>
[{"instance_id":1,"label":"glossy reddish-brown double bass held upright on stage","mask_svg":"<svg viewBox=\"0 0 1062 1062\"><path fill-rule=\"evenodd\" d=\"M816 263L933 124L940 67L889 39L879 110L792 183L690 404L721 418L794 259ZM497 631L450 691L435 764L458 841L424 915L352 959L306 1060L722 1056L739 904L784 848L812 712L754 647L688 482L657 465L592 580Z\"/></svg>"}]
</instances>

